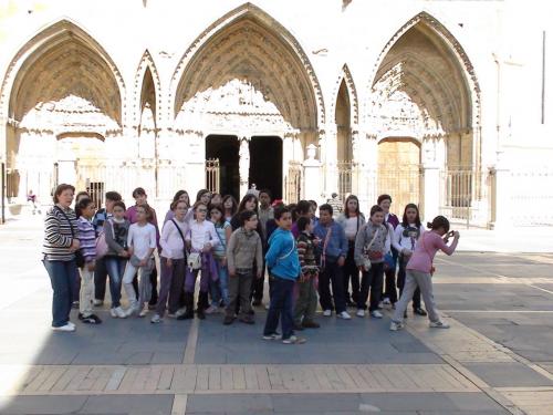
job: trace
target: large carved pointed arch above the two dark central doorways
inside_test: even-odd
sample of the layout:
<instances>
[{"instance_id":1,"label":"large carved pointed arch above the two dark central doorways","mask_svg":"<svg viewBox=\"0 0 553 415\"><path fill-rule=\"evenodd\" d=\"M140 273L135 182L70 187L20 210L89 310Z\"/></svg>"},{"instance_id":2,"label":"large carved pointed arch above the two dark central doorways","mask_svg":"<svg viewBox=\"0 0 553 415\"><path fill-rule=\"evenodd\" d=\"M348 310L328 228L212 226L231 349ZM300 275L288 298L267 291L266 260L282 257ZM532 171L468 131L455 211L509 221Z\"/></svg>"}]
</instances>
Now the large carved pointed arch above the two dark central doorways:
<instances>
[{"instance_id":1,"label":"large carved pointed arch above the two dark central doorways","mask_svg":"<svg viewBox=\"0 0 553 415\"><path fill-rule=\"evenodd\" d=\"M217 53L220 49L225 53ZM281 117L292 131L314 133L325 122L321 86L307 55L284 27L251 3L217 20L182 55L169 87L177 122L184 107L208 101L205 93L231 82L231 90L254 97L255 111L269 123L282 123L275 121Z\"/></svg>"}]
</instances>

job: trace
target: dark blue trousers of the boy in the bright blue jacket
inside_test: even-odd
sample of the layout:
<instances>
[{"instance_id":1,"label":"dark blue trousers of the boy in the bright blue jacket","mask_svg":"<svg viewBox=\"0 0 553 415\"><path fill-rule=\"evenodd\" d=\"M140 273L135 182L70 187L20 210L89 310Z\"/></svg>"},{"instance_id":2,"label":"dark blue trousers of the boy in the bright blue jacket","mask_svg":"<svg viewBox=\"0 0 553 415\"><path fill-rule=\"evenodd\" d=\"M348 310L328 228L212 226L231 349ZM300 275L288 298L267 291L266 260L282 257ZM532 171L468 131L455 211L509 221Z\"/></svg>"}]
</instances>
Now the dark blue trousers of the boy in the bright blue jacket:
<instances>
[{"instance_id":1,"label":"dark blue trousers of the boy in the bright blue jacket","mask_svg":"<svg viewBox=\"0 0 553 415\"><path fill-rule=\"evenodd\" d=\"M294 280L285 280L274 277L271 292L271 305L267 314L265 328L263 335L274 334L279 326L279 318L282 318L282 339L290 339L294 334L294 318L293 318L293 292Z\"/></svg>"}]
</instances>

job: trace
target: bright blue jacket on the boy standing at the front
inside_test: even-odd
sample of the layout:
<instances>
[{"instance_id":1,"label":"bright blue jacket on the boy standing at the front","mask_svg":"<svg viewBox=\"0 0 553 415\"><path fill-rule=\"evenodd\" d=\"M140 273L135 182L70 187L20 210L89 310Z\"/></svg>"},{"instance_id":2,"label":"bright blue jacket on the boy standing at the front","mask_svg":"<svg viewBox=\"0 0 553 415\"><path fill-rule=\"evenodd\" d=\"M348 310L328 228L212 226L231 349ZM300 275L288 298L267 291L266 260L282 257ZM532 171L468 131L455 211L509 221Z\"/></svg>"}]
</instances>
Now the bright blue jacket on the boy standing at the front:
<instances>
[{"instance_id":1,"label":"bright blue jacket on the boy standing at the front","mask_svg":"<svg viewBox=\"0 0 553 415\"><path fill-rule=\"evenodd\" d=\"M285 280L298 279L301 272L300 258L295 239L290 230L278 228L272 232L265 261L271 274Z\"/></svg>"}]
</instances>

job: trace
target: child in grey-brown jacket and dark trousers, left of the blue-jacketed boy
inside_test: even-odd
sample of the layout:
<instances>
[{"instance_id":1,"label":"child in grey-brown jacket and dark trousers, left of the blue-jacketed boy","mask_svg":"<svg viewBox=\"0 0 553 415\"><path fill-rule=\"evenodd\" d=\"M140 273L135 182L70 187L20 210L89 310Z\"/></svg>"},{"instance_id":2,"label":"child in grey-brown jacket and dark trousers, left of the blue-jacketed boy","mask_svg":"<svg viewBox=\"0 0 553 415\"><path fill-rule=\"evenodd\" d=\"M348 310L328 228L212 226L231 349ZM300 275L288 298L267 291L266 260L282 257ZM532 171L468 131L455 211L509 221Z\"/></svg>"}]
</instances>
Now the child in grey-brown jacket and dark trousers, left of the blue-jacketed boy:
<instances>
[{"instance_id":1,"label":"child in grey-brown jacket and dark trousers, left of the blue-jacketed boy","mask_svg":"<svg viewBox=\"0 0 553 415\"><path fill-rule=\"evenodd\" d=\"M261 237L255 231L258 216L253 210L243 210L240 214L241 226L232 232L227 248L229 267L229 304L223 324L231 324L234 320L237 302L240 301L240 321L253 324L251 315L250 293L253 278L253 263L257 264L255 277L261 278L263 269L263 253ZM255 262L254 262L255 261Z\"/></svg>"}]
</instances>

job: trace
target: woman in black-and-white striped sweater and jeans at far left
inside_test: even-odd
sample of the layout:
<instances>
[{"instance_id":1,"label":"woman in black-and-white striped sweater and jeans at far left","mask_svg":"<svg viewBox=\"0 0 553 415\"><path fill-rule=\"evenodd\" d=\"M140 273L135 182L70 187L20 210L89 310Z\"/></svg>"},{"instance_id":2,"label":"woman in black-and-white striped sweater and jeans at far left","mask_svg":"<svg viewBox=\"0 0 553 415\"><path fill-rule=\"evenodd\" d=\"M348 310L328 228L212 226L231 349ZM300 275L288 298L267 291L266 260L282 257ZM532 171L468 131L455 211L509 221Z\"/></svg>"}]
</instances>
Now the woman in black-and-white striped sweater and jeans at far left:
<instances>
[{"instance_id":1,"label":"woman in black-and-white striped sweater and jeans at far left","mask_svg":"<svg viewBox=\"0 0 553 415\"><path fill-rule=\"evenodd\" d=\"M75 331L70 321L72 292L75 284L75 251L80 248L79 229L75 212L70 208L75 188L59 185L55 188L54 207L44 219L44 242L42 262L52 283L52 329L55 331Z\"/></svg>"}]
</instances>

